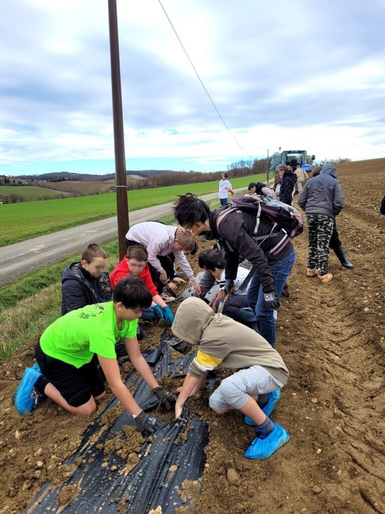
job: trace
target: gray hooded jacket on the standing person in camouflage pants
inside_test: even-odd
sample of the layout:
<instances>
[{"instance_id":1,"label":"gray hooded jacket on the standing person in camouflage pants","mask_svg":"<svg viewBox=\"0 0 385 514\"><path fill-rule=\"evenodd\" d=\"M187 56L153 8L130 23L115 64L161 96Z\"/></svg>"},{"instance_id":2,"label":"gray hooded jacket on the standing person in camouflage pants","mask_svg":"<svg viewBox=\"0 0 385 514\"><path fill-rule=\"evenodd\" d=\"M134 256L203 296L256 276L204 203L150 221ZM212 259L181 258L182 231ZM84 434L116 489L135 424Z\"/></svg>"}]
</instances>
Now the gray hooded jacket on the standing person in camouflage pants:
<instances>
[{"instance_id":1,"label":"gray hooded jacket on the standing person in camouflage pants","mask_svg":"<svg viewBox=\"0 0 385 514\"><path fill-rule=\"evenodd\" d=\"M319 175L307 180L298 205L306 214L324 214L332 218L342 211L345 198L334 166L324 166Z\"/></svg>"}]
</instances>

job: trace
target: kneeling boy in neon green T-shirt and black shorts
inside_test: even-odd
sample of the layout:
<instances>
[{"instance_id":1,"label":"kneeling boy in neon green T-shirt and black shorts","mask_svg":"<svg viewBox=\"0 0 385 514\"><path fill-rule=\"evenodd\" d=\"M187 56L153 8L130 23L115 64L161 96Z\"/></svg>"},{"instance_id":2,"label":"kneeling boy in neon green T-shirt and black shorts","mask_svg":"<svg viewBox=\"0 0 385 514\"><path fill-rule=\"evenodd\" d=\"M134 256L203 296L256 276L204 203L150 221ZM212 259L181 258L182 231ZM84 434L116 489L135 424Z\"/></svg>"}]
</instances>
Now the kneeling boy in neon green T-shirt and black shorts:
<instances>
[{"instance_id":1,"label":"kneeling boy in neon green T-shirt and black shorts","mask_svg":"<svg viewBox=\"0 0 385 514\"><path fill-rule=\"evenodd\" d=\"M114 344L123 339L130 361L161 402L175 402L163 391L142 356L137 340L138 318L151 304L143 281L126 277L115 285L112 302L72 310L54 321L36 344L37 363L27 368L12 399L20 414L32 411L45 394L63 409L78 416L89 416L96 401L105 394L98 361L112 393L134 417L138 427L154 432L163 421L147 415L123 383Z\"/></svg>"}]
</instances>

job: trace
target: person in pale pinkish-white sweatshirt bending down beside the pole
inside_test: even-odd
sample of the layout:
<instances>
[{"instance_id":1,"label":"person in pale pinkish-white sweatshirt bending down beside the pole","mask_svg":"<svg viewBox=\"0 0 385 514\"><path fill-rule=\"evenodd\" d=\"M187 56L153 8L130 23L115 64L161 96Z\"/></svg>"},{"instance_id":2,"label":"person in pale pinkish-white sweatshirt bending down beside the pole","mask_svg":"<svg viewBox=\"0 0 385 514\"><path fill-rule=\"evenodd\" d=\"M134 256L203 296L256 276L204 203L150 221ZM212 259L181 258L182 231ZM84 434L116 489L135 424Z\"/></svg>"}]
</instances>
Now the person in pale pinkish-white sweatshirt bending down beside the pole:
<instances>
[{"instance_id":1,"label":"person in pale pinkish-white sweatshirt bending down beside the pole","mask_svg":"<svg viewBox=\"0 0 385 514\"><path fill-rule=\"evenodd\" d=\"M161 293L163 286L171 280L176 260L187 275L198 295L201 289L195 280L194 271L185 254L194 250L196 239L190 230L173 227L160 222L137 223L129 229L125 239L126 248L142 245L148 252L148 267L152 282Z\"/></svg>"}]
</instances>

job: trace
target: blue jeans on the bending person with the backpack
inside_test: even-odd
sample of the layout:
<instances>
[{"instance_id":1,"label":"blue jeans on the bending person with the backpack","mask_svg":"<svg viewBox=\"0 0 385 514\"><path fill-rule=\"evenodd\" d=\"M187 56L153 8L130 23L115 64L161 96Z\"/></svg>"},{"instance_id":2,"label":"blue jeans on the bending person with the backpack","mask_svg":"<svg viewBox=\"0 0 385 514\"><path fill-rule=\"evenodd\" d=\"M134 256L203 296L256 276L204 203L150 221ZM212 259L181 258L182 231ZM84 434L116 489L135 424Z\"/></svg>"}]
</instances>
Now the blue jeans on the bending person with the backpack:
<instances>
[{"instance_id":1,"label":"blue jeans on the bending person with the backpack","mask_svg":"<svg viewBox=\"0 0 385 514\"><path fill-rule=\"evenodd\" d=\"M269 266L272 272L273 279L275 281L275 287L277 294L280 297L282 294L283 287L286 283L287 277L292 272L294 263L296 260L296 254L293 251L287 255L282 261L277 262ZM247 291L247 302L249 306L254 309L255 317L258 320L259 332L262 337L268 341L273 348L275 347L275 319L274 309L267 307L263 297L262 286L259 281L258 273L255 272L250 282L250 286Z\"/></svg>"}]
</instances>

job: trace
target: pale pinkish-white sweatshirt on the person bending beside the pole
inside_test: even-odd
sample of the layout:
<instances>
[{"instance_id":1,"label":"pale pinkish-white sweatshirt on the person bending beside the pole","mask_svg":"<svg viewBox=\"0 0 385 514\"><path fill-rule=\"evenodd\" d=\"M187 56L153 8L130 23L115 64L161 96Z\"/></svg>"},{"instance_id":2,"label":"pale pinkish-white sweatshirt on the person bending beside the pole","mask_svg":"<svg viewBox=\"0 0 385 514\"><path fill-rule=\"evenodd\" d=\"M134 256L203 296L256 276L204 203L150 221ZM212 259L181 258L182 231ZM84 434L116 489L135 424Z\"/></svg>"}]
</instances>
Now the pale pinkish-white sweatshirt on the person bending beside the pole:
<instances>
[{"instance_id":1,"label":"pale pinkish-white sweatshirt on the person bending beside the pole","mask_svg":"<svg viewBox=\"0 0 385 514\"><path fill-rule=\"evenodd\" d=\"M126 239L136 241L138 244L144 246L148 252L148 262L157 271L162 271L162 265L157 258L157 255L168 255L174 253L175 259L182 268L182 271L187 275L189 280L194 280L194 271L182 250L177 251L173 249L175 242L175 232L178 227L172 225L163 225L158 222L142 222L137 223L129 229L126 234Z\"/></svg>"}]
</instances>

